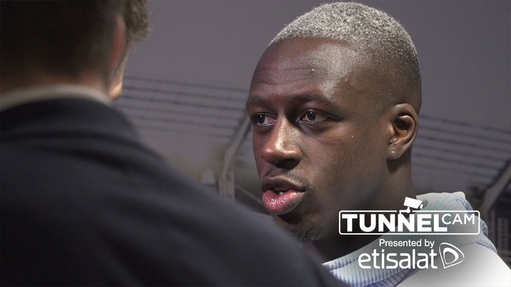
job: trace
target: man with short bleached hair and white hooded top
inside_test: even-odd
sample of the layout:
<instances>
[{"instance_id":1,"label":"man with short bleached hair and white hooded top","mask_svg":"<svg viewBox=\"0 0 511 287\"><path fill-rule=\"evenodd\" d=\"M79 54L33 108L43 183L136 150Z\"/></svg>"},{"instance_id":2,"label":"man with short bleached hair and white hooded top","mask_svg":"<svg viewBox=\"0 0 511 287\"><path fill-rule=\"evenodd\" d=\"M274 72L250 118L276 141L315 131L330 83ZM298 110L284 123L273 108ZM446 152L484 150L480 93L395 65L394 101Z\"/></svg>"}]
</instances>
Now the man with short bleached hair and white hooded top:
<instances>
[{"instance_id":1,"label":"man with short bleached hair and white hooded top","mask_svg":"<svg viewBox=\"0 0 511 287\"><path fill-rule=\"evenodd\" d=\"M263 203L350 285L509 284L482 221L475 235L390 235L360 217L352 223L364 229L350 231L358 234L339 234L351 228L340 211L399 211L406 198L424 202L423 211L472 210L462 193L415 196L411 147L421 97L413 42L386 13L330 3L296 18L261 57L247 100ZM422 246L392 246L411 239ZM438 269L440 243L459 248L464 261Z\"/></svg>"}]
</instances>

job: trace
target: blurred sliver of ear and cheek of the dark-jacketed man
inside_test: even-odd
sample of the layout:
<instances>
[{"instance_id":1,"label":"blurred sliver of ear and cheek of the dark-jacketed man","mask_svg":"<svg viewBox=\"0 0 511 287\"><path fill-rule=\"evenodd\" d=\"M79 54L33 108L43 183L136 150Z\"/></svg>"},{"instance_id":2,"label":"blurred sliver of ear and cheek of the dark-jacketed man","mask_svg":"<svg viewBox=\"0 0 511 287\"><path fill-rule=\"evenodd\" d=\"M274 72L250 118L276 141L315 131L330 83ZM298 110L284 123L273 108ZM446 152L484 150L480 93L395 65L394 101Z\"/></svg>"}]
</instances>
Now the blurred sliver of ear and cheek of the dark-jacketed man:
<instances>
[{"instance_id":1,"label":"blurred sliver of ear and cheek of the dark-jacketed man","mask_svg":"<svg viewBox=\"0 0 511 287\"><path fill-rule=\"evenodd\" d=\"M115 18L115 31L112 39L112 50L110 53L110 61L108 63L108 71L110 77L108 95L112 100L119 97L122 91L124 67L126 65L127 51L125 50L125 26L121 16Z\"/></svg>"}]
</instances>

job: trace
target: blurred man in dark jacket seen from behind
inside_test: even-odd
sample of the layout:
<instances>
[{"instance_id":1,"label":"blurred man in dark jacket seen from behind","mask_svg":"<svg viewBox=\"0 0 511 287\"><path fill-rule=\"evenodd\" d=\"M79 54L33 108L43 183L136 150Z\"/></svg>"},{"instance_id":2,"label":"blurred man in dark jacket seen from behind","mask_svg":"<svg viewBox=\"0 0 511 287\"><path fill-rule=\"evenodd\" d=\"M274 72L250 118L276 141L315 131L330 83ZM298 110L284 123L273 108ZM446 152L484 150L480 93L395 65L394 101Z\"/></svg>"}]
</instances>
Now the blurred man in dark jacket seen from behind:
<instances>
[{"instance_id":1,"label":"blurred man in dark jacket seen from behind","mask_svg":"<svg viewBox=\"0 0 511 287\"><path fill-rule=\"evenodd\" d=\"M2 1L2 285L339 282L182 178L112 109L143 1Z\"/></svg>"}]
</instances>

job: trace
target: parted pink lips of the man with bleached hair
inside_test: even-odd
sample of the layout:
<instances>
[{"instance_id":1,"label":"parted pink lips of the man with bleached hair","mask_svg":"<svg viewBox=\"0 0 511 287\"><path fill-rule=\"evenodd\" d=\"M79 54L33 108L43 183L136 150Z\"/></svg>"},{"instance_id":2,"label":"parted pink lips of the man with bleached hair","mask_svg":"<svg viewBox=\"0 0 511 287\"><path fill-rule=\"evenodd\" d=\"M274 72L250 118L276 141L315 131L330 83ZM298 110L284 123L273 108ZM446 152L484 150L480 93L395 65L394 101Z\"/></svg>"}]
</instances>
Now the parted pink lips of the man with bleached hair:
<instances>
[{"instance_id":1,"label":"parted pink lips of the man with bleached hair","mask_svg":"<svg viewBox=\"0 0 511 287\"><path fill-rule=\"evenodd\" d=\"M291 212L303 200L305 190L287 179L263 179L263 204L271 214Z\"/></svg>"}]
</instances>

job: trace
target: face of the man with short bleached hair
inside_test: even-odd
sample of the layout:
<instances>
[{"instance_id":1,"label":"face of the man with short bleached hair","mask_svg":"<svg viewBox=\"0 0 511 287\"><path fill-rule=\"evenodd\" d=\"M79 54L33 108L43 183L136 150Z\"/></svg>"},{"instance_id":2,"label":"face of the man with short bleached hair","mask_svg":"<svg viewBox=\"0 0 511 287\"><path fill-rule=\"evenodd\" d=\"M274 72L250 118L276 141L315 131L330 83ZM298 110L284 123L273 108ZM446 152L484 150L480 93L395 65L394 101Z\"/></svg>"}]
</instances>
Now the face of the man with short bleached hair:
<instances>
[{"instance_id":1,"label":"face of the man with short bleached hair","mask_svg":"<svg viewBox=\"0 0 511 287\"><path fill-rule=\"evenodd\" d=\"M292 39L254 71L247 111L263 202L303 241L337 240L340 210L379 209L393 188L400 112L379 105L364 65L345 43Z\"/></svg>"}]
</instances>

